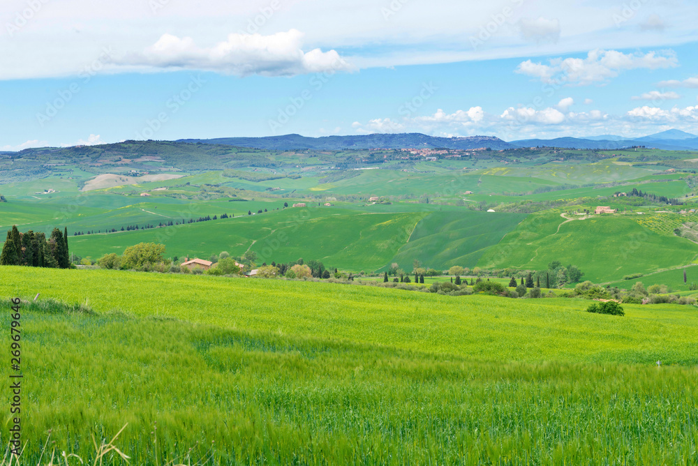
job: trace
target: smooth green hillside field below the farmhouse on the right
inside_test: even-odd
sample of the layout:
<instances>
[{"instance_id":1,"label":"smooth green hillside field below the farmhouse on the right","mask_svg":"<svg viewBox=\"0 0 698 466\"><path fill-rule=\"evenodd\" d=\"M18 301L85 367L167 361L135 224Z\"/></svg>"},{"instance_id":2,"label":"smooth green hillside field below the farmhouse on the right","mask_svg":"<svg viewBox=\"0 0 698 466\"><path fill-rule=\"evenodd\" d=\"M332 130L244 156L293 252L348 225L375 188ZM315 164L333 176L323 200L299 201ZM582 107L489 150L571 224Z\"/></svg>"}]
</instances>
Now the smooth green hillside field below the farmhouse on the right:
<instances>
[{"instance_id":1,"label":"smooth green hillside field below the farmhouse on the right","mask_svg":"<svg viewBox=\"0 0 698 466\"><path fill-rule=\"evenodd\" d=\"M585 280L608 282L692 263L698 254L695 243L649 230L634 217L567 221L555 211L538 213L487 250L478 265L544 270L558 260L579 266Z\"/></svg>"}]
</instances>

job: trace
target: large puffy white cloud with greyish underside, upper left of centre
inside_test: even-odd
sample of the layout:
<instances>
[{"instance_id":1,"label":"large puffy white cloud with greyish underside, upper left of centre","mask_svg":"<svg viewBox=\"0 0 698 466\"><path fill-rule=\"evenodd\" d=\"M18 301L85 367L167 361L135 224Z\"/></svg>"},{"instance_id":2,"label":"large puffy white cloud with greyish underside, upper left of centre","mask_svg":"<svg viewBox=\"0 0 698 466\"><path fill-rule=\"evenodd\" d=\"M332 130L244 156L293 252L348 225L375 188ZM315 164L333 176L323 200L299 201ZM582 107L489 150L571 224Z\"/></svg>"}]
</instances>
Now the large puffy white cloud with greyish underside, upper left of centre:
<instances>
[{"instance_id":1,"label":"large puffy white cloud with greyish underside, upper left of centre","mask_svg":"<svg viewBox=\"0 0 698 466\"><path fill-rule=\"evenodd\" d=\"M304 52L304 34L297 29L270 36L231 33L213 47L198 47L191 37L164 34L142 53L117 63L124 66L211 70L238 76L293 76L350 71L352 66L335 50Z\"/></svg>"}]
</instances>

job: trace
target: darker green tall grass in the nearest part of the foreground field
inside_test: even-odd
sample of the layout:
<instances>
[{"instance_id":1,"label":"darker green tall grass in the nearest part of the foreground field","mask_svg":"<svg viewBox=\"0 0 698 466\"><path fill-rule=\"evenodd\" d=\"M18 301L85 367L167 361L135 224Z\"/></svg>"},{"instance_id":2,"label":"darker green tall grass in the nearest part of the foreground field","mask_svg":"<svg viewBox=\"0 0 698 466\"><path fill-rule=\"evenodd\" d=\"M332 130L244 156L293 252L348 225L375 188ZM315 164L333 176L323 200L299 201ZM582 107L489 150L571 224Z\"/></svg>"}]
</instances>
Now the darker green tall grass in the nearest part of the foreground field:
<instances>
[{"instance_id":1,"label":"darker green tall grass in the nearest part of the foreground field","mask_svg":"<svg viewBox=\"0 0 698 466\"><path fill-rule=\"evenodd\" d=\"M109 442L125 423L117 445L136 465L698 463L695 367L487 362L59 306L23 313L22 464L37 464L49 432L49 450L91 464L91 435Z\"/></svg>"}]
</instances>

